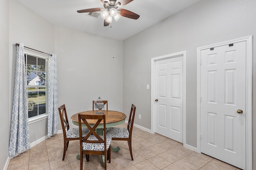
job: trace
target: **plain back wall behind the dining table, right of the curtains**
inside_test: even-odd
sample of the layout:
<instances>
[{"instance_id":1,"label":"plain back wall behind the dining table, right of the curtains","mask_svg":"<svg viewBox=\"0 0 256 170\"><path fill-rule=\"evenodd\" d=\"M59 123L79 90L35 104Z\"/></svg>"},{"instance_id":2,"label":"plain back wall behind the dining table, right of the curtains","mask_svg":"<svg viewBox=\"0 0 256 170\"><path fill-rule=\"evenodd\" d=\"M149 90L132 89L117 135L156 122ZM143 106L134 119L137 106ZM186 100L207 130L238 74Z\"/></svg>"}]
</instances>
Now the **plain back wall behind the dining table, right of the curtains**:
<instances>
[{"instance_id":1,"label":"plain back wall behind the dining table, right of the curtains","mask_svg":"<svg viewBox=\"0 0 256 170\"><path fill-rule=\"evenodd\" d=\"M122 41L56 26L55 42L58 105L68 117L91 110L99 96L122 111Z\"/></svg>"}]
</instances>

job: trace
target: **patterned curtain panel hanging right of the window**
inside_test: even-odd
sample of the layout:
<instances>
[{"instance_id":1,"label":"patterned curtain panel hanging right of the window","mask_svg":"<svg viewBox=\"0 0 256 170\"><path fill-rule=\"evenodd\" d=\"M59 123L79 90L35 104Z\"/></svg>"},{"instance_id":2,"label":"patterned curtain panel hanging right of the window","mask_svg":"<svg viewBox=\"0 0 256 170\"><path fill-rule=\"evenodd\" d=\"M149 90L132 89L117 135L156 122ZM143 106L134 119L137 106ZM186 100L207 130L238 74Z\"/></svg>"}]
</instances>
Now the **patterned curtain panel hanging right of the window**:
<instances>
[{"instance_id":1,"label":"patterned curtain panel hanging right of the window","mask_svg":"<svg viewBox=\"0 0 256 170\"><path fill-rule=\"evenodd\" d=\"M58 130L57 61L55 54L49 56L48 90L48 137L50 137L55 135Z\"/></svg>"}]
</instances>

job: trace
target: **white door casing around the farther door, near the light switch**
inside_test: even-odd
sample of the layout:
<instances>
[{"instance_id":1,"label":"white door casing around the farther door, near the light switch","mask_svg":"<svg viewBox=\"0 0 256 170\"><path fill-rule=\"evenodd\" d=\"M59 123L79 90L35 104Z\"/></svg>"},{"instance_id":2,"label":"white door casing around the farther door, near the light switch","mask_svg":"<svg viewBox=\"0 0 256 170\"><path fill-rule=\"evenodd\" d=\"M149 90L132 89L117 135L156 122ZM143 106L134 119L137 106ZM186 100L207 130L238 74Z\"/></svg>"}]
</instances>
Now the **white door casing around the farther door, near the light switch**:
<instances>
[{"instance_id":1,"label":"white door casing around the farther door, near the light switch","mask_svg":"<svg viewBox=\"0 0 256 170\"><path fill-rule=\"evenodd\" d=\"M164 56L160 56L160 57L154 57L151 59L151 133L155 133L156 132L156 121L155 121L155 117L156 117L156 63L159 61L168 61L169 59L178 59L181 58L181 69L182 69L182 78L180 80L180 82L182 83L182 92L180 92L180 94L182 96L180 96L180 98L182 99L182 104L181 104L181 115L180 117L182 118L181 120L181 130L180 130L180 135L182 135L181 137L179 137L180 140L182 140L182 143L185 142L186 139L186 131L184 129L186 129L186 121L185 121L185 117L186 117L186 51L181 51L178 53L173 53L173 54L169 54L169 55L164 55ZM170 136L169 136L170 137Z\"/></svg>"}]
</instances>

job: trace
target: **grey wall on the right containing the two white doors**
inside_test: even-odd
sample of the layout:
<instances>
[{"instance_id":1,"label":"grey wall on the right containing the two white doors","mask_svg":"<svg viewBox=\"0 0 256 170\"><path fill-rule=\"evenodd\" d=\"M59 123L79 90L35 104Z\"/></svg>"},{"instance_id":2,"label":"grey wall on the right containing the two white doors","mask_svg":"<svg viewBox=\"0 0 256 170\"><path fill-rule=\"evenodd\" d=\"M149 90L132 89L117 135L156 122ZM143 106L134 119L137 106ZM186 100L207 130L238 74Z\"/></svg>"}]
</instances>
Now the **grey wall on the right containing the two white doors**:
<instances>
[{"instance_id":1,"label":"grey wall on the right containing the two white doors","mask_svg":"<svg viewBox=\"0 0 256 170\"><path fill-rule=\"evenodd\" d=\"M151 58L187 51L186 143L196 147L197 47L248 35L256 35L255 0L203 0L123 42L124 103L133 102L142 119L135 123L150 127ZM253 49L256 49L253 38ZM253 54L255 57L255 53ZM255 65L255 61L254 64ZM255 69L254 69L255 72ZM255 74L254 94L256 99ZM124 110L128 106L124 105ZM253 104L253 153L256 156L256 104ZM138 115L137 114L137 115ZM254 158L254 168L256 162Z\"/></svg>"}]
</instances>

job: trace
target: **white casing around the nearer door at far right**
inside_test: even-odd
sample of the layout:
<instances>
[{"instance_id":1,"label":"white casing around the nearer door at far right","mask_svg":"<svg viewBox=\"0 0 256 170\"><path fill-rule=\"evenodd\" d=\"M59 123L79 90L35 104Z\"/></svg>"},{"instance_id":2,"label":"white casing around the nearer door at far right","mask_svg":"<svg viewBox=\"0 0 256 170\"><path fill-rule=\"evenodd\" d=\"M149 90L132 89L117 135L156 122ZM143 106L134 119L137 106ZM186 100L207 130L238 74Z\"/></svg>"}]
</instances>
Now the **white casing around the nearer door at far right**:
<instances>
[{"instance_id":1,"label":"white casing around the nearer door at far right","mask_svg":"<svg viewBox=\"0 0 256 170\"><path fill-rule=\"evenodd\" d=\"M239 39L234 39L230 41L225 41L222 43L216 43L213 45L207 45L204 47L198 47L197 49L197 152L201 152L201 90L202 90L202 72L201 72L201 62L202 62L202 56L201 52L205 49L210 48L216 48L224 45L229 45L233 43L240 43L245 42L246 43L246 78L245 78L245 86L246 86L246 139L245 139L245 149L246 149L246 169L251 170L252 169L252 36L248 37L242 37ZM210 155L211 156L211 155Z\"/></svg>"}]
</instances>

